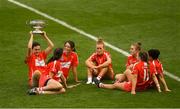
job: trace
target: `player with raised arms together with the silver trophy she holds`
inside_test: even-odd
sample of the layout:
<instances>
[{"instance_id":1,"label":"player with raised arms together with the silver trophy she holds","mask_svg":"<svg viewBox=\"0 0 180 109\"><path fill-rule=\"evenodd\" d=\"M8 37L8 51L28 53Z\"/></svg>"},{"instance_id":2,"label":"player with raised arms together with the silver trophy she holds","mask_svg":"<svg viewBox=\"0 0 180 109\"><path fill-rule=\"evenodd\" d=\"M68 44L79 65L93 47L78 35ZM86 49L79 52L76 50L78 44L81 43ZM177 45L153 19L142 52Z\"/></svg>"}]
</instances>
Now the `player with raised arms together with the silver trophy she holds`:
<instances>
[{"instance_id":1,"label":"player with raised arms together with the silver trophy she holds","mask_svg":"<svg viewBox=\"0 0 180 109\"><path fill-rule=\"evenodd\" d=\"M34 30L30 31L25 63L29 67L29 86L37 87L40 75L46 70L46 58L51 53L54 44L48 38L46 32L42 31L42 28L46 25L43 20L32 20L27 22L27 24ZM48 44L46 49L41 50L40 44L34 41L35 34L39 34L45 39L45 42Z\"/></svg>"}]
</instances>

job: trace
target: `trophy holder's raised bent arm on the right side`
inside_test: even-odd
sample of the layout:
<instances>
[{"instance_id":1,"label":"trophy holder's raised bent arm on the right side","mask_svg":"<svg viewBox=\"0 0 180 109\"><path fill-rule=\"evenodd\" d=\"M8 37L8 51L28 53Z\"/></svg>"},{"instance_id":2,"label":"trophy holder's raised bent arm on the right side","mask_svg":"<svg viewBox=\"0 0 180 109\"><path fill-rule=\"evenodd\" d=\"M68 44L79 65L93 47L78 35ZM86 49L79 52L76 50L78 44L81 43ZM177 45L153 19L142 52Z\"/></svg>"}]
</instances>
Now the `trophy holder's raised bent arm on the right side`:
<instances>
[{"instance_id":1,"label":"trophy holder's raised bent arm on the right side","mask_svg":"<svg viewBox=\"0 0 180 109\"><path fill-rule=\"evenodd\" d=\"M45 40L47 41L47 43L48 43L48 47L45 49L45 53L48 55L48 54L52 51L52 49L53 49L53 47L54 47L54 44L53 44L53 42L48 38L48 36L47 36L47 34L46 34L45 31L43 31L42 36L44 37L44 39L45 39Z\"/></svg>"}]
</instances>

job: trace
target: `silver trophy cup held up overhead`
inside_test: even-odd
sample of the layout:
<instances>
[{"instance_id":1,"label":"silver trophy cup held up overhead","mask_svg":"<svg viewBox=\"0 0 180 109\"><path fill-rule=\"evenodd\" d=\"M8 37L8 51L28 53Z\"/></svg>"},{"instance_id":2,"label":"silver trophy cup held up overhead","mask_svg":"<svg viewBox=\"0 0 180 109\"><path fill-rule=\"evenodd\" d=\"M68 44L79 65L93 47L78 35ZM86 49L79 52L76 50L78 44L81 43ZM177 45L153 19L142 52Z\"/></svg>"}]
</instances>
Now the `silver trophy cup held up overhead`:
<instances>
[{"instance_id":1,"label":"silver trophy cup held up overhead","mask_svg":"<svg viewBox=\"0 0 180 109\"><path fill-rule=\"evenodd\" d=\"M46 23L43 20L31 20L27 22L27 24L34 29L32 31L33 34L42 34L42 29L46 26Z\"/></svg>"}]
</instances>

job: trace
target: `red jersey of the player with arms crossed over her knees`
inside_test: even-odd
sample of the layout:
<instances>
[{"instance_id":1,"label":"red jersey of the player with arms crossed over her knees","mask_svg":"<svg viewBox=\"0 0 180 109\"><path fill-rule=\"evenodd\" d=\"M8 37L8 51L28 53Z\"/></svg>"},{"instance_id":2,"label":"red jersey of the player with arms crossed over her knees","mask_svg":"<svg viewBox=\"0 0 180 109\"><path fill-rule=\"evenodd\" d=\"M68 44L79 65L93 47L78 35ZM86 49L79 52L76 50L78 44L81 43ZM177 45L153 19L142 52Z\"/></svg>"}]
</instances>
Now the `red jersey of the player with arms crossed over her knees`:
<instances>
[{"instance_id":1,"label":"red jersey of the player with arms crossed over her knees","mask_svg":"<svg viewBox=\"0 0 180 109\"><path fill-rule=\"evenodd\" d=\"M102 55L98 55L97 53L93 53L90 56L90 59L92 62L94 62L98 66L98 65L101 65L104 62L106 62L108 57L111 58L110 54L105 51ZM112 67L112 64L110 64L109 67Z\"/></svg>"}]
</instances>

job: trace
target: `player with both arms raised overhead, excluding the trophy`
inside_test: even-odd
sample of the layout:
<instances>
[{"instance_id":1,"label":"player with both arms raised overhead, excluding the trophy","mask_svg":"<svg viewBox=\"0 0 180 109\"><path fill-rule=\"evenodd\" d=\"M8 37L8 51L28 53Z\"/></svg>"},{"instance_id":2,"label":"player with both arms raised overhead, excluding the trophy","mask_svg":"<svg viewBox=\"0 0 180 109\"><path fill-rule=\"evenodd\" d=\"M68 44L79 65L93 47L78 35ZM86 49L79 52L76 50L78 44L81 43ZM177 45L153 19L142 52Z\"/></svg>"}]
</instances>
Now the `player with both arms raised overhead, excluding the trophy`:
<instances>
[{"instance_id":1,"label":"player with both arms raised overhead, excluding the trophy","mask_svg":"<svg viewBox=\"0 0 180 109\"><path fill-rule=\"evenodd\" d=\"M45 31L41 34L41 36L46 40L48 43L48 47L41 51L41 46L38 42L33 42L34 35L32 31L30 31L30 39L28 42L28 50L25 59L25 63L28 65L29 68L29 86L30 87L37 87L38 80L41 75L46 69L46 57L52 51L54 44L48 38Z\"/></svg>"}]
</instances>

